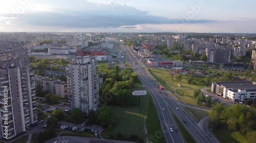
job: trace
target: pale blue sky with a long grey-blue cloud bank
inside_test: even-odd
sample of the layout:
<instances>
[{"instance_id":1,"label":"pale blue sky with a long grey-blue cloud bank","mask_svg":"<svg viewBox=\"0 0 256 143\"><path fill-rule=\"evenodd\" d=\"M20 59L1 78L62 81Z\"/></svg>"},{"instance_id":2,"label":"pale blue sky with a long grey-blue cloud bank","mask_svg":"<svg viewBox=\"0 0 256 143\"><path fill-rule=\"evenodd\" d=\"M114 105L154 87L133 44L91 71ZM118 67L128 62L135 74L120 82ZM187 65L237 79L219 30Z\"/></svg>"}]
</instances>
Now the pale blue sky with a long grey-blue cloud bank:
<instances>
[{"instance_id":1,"label":"pale blue sky with a long grey-blue cloud bank","mask_svg":"<svg viewBox=\"0 0 256 143\"><path fill-rule=\"evenodd\" d=\"M256 33L252 0L2 0L0 32Z\"/></svg>"}]
</instances>

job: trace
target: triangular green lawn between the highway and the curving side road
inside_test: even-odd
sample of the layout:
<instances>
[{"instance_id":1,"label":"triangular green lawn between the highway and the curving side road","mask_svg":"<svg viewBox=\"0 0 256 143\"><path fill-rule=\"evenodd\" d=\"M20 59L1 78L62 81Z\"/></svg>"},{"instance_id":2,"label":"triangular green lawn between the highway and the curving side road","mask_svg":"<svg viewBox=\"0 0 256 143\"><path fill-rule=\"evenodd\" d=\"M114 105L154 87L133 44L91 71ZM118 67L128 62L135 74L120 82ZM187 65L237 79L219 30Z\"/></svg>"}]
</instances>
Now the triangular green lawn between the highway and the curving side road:
<instances>
[{"instance_id":1,"label":"triangular green lawn between the highway and the curving side road","mask_svg":"<svg viewBox=\"0 0 256 143\"><path fill-rule=\"evenodd\" d=\"M199 123L200 120L203 119L205 116L209 115L210 112L209 110L194 109L183 105L181 106L188 113L188 115L197 123Z\"/></svg>"}]
</instances>

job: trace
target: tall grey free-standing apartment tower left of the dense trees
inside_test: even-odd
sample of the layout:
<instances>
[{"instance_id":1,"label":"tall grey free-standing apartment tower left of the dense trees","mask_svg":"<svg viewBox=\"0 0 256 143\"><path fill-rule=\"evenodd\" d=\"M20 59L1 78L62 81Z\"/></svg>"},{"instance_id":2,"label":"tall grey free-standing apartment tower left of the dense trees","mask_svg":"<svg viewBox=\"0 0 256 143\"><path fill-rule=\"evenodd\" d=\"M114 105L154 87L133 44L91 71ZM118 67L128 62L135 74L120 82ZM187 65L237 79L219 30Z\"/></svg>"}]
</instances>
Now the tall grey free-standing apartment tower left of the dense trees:
<instances>
[{"instance_id":1,"label":"tall grey free-standing apartment tower left of the dense trees","mask_svg":"<svg viewBox=\"0 0 256 143\"><path fill-rule=\"evenodd\" d=\"M75 55L69 64L69 102L70 109L80 108L86 115L99 106L98 62L95 57Z\"/></svg>"}]
</instances>

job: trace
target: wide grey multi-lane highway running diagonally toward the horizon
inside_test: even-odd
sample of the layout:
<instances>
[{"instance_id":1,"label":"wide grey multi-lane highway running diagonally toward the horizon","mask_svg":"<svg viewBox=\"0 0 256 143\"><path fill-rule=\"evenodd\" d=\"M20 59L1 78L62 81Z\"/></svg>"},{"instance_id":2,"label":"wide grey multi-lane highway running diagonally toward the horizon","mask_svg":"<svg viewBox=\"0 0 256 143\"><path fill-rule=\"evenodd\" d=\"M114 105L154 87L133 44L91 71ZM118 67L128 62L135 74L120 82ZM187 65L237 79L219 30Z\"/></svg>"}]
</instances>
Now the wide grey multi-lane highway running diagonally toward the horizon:
<instances>
[{"instance_id":1,"label":"wide grey multi-lane highway running diagonally toward the horizon","mask_svg":"<svg viewBox=\"0 0 256 143\"><path fill-rule=\"evenodd\" d=\"M138 60L138 56L133 53L133 49L127 48L122 44L121 47L125 49L123 55L126 58L126 61L130 63L132 68L137 73L138 77L147 88L148 92L150 92L153 97L166 142L184 142L184 139L182 138L179 131L171 132L169 130L169 128L175 129L178 127L174 122L168 106L172 108L176 116L180 119L180 121L182 121L183 125L188 129L190 134L194 136L197 142L218 142L212 135L203 132L203 130L197 125L197 123L188 116L185 110L182 109L182 107L180 106L180 101L173 97L172 93L168 92L165 89L160 90L157 87L159 86L158 83L150 75L147 74L144 65ZM135 59L135 57L137 58ZM164 108L165 110L163 110L162 108Z\"/></svg>"}]
</instances>

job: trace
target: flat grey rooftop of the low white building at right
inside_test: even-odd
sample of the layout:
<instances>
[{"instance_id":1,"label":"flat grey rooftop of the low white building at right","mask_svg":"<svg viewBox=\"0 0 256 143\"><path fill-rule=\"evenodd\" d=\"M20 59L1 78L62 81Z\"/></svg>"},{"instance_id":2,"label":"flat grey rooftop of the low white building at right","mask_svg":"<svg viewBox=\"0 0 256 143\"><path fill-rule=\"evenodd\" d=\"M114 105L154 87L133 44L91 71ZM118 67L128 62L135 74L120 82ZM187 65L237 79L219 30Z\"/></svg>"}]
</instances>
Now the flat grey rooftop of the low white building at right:
<instances>
[{"instance_id":1,"label":"flat grey rooftop of the low white building at right","mask_svg":"<svg viewBox=\"0 0 256 143\"><path fill-rule=\"evenodd\" d=\"M244 89L244 90L256 89L256 82L252 82L252 81L215 82L215 83L222 85L223 87L226 87L226 88L231 88L232 91L235 91L238 89Z\"/></svg>"}]
</instances>

